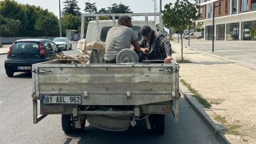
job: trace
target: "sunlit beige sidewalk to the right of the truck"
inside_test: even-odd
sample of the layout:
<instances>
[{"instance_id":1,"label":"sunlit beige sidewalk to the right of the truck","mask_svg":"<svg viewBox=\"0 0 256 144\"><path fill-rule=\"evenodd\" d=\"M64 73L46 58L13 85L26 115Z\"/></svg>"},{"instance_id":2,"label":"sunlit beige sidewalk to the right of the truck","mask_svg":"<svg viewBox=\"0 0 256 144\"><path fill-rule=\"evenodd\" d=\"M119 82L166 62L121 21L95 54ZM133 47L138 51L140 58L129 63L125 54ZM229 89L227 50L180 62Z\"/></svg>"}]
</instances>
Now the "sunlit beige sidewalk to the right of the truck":
<instances>
[{"instance_id":1,"label":"sunlit beige sidewalk to the right of the truck","mask_svg":"<svg viewBox=\"0 0 256 144\"><path fill-rule=\"evenodd\" d=\"M171 44L175 59L181 45ZM231 143L256 143L256 71L199 50L183 51L192 63L180 64L180 79L211 103L210 109L204 108L207 115L229 129L232 134L225 136Z\"/></svg>"}]
</instances>

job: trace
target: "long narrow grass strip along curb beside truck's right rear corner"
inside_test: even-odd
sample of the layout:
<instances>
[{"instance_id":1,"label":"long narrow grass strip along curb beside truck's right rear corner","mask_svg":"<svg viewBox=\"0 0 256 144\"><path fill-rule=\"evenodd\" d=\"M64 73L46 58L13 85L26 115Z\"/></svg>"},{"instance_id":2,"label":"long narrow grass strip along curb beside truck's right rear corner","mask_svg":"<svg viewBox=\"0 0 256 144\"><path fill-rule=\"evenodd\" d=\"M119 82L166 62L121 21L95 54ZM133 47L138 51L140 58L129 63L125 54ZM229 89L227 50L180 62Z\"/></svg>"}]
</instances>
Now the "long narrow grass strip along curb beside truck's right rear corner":
<instances>
[{"instance_id":1,"label":"long narrow grass strip along curb beside truck's right rear corner","mask_svg":"<svg viewBox=\"0 0 256 144\"><path fill-rule=\"evenodd\" d=\"M193 96L197 99L197 101L204 106L204 108L211 108L212 105L207 102L194 88L191 87L191 84L187 83L185 80L181 79L183 85L185 85L188 90L193 93Z\"/></svg>"}]
</instances>

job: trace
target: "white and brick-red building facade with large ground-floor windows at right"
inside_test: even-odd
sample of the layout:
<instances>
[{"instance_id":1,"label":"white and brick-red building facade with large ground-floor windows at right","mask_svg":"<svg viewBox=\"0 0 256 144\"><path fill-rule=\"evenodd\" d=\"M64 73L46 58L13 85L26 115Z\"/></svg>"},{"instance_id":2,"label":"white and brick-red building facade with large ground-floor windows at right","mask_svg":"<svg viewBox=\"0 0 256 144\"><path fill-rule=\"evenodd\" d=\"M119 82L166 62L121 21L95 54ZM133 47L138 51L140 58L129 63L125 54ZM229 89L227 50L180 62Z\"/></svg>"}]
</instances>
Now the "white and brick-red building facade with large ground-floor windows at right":
<instances>
[{"instance_id":1,"label":"white and brick-red building facade with large ground-floor windows at right","mask_svg":"<svg viewBox=\"0 0 256 144\"><path fill-rule=\"evenodd\" d=\"M204 40L212 40L214 16L215 40L256 41L256 0L196 0L201 16L196 22L204 23ZM213 13L212 8L215 8Z\"/></svg>"}]
</instances>

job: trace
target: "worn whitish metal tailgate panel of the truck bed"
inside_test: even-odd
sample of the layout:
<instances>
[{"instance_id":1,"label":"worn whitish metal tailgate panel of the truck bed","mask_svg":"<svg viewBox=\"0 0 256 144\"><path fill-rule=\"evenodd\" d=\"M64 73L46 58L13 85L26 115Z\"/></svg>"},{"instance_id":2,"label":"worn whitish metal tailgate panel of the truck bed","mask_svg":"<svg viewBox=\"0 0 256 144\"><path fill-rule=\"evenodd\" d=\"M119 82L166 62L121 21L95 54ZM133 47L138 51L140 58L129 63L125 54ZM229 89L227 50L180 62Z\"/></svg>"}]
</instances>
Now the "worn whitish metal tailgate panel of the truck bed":
<instances>
[{"instance_id":1,"label":"worn whitish metal tailgate panel of the truck bed","mask_svg":"<svg viewBox=\"0 0 256 144\"><path fill-rule=\"evenodd\" d=\"M33 65L34 99L40 100L42 95L88 95L83 105L141 105L179 97L179 65L175 61L66 64L67 61L70 60ZM132 99L127 99L127 93Z\"/></svg>"}]
</instances>

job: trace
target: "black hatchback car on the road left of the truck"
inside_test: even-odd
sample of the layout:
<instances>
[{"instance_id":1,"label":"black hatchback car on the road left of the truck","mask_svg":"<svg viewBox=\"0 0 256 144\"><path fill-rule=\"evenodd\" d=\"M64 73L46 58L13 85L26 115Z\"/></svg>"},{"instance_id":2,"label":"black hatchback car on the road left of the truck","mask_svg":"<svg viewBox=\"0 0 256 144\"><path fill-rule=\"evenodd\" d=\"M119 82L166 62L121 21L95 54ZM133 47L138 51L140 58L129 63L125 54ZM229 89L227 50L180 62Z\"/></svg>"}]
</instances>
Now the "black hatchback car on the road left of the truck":
<instances>
[{"instance_id":1,"label":"black hatchback car on the road left of the truck","mask_svg":"<svg viewBox=\"0 0 256 144\"><path fill-rule=\"evenodd\" d=\"M32 64L52 60L61 50L48 39L22 39L10 46L4 62L7 76L14 72L31 72Z\"/></svg>"}]
</instances>

